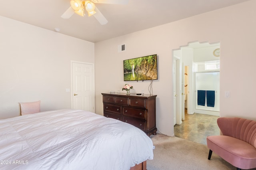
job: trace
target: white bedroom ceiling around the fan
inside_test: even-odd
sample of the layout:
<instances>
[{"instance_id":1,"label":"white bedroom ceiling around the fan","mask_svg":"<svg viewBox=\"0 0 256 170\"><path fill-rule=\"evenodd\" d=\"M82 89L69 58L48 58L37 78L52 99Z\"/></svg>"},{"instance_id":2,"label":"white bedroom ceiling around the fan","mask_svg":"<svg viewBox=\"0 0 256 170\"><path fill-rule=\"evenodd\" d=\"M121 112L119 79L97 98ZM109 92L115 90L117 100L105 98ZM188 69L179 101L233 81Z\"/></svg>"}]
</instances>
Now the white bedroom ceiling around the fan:
<instances>
[{"instance_id":1,"label":"white bedroom ceiling around the fan","mask_svg":"<svg viewBox=\"0 0 256 170\"><path fill-rule=\"evenodd\" d=\"M0 16L89 42L99 42L152 28L248 0L129 0L127 5L96 4L108 20L106 25L94 16L70 19L60 16L70 7L70 0L1 0Z\"/></svg>"}]
</instances>

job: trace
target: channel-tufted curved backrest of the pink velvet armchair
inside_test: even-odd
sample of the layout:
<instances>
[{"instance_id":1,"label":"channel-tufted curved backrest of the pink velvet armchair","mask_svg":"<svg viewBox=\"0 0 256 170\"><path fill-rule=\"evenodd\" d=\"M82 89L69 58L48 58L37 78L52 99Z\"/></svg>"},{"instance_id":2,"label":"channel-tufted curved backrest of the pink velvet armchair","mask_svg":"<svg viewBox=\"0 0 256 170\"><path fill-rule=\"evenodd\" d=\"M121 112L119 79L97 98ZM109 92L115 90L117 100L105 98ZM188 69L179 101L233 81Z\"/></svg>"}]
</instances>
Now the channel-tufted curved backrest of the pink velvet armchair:
<instances>
[{"instance_id":1,"label":"channel-tufted curved backrest of the pink velvet armchair","mask_svg":"<svg viewBox=\"0 0 256 170\"><path fill-rule=\"evenodd\" d=\"M219 117L217 123L223 135L238 138L256 148L256 121L238 117Z\"/></svg>"}]
</instances>

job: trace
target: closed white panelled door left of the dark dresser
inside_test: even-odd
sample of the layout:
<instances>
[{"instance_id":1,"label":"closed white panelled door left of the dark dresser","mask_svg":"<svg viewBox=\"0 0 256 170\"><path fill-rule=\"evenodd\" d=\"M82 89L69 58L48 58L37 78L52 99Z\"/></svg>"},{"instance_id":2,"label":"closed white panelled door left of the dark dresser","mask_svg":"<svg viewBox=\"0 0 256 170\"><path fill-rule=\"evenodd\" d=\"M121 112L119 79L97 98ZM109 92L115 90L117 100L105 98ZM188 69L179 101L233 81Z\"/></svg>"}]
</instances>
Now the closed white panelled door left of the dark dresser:
<instances>
[{"instance_id":1,"label":"closed white panelled door left of the dark dresser","mask_svg":"<svg viewBox=\"0 0 256 170\"><path fill-rule=\"evenodd\" d=\"M94 64L71 61L72 109L95 113Z\"/></svg>"}]
</instances>

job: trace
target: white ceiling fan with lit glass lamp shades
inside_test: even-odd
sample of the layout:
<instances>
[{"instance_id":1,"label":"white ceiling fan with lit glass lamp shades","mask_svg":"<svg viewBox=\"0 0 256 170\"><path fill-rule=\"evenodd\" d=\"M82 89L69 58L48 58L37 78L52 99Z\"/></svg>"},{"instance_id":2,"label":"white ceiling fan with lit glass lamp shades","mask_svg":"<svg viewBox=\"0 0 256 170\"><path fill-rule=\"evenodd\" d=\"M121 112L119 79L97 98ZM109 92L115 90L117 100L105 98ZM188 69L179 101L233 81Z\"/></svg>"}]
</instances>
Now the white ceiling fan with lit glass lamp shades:
<instances>
[{"instance_id":1,"label":"white ceiling fan with lit glass lamp shades","mask_svg":"<svg viewBox=\"0 0 256 170\"><path fill-rule=\"evenodd\" d=\"M128 4L129 0L71 0L70 7L62 14L61 18L68 19L74 13L85 16L85 12L88 12L88 16L94 16L101 25L108 23L108 20L102 15L94 3L100 4Z\"/></svg>"}]
</instances>

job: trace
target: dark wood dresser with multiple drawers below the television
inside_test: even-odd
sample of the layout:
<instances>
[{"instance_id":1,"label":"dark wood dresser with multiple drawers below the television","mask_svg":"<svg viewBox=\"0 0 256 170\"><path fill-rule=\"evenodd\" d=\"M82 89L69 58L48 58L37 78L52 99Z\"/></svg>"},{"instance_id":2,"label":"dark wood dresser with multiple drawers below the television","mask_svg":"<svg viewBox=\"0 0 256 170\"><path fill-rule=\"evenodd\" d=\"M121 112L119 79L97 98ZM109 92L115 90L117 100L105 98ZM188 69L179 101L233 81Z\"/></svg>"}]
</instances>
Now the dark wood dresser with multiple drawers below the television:
<instances>
[{"instance_id":1,"label":"dark wood dresser with multiple drawers below the television","mask_svg":"<svg viewBox=\"0 0 256 170\"><path fill-rule=\"evenodd\" d=\"M156 134L156 95L101 93L104 116L134 125L148 136Z\"/></svg>"}]
</instances>

